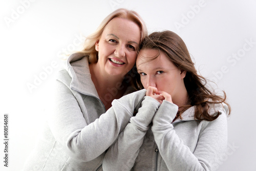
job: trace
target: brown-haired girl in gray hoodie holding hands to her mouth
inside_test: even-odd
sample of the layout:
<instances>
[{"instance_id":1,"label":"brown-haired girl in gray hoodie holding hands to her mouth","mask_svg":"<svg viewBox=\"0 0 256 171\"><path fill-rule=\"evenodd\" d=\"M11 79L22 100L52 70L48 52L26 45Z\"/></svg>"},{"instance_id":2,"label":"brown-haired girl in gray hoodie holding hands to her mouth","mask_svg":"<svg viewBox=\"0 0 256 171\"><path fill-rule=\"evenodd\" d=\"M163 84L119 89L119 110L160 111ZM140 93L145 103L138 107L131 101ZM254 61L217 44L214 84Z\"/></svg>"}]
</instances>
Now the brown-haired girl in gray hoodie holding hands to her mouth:
<instances>
[{"instance_id":1,"label":"brown-haired girl in gray hoodie holding hands to her mouth","mask_svg":"<svg viewBox=\"0 0 256 171\"><path fill-rule=\"evenodd\" d=\"M146 37L136 65L146 96L106 153L103 169L215 170L227 146L225 92L222 97L207 88L171 31Z\"/></svg>"}]
</instances>

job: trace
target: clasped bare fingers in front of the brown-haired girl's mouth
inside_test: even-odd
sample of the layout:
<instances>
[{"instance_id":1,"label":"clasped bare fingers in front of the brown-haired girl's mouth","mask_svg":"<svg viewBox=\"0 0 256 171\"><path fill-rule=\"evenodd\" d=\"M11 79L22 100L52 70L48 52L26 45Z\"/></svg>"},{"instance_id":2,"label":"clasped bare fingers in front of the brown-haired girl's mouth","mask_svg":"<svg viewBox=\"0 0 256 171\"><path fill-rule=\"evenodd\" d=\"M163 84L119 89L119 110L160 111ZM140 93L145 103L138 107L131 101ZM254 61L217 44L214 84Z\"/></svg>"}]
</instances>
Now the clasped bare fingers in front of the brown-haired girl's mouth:
<instances>
[{"instance_id":1,"label":"clasped bare fingers in front of the brown-haired girl's mouth","mask_svg":"<svg viewBox=\"0 0 256 171\"><path fill-rule=\"evenodd\" d=\"M172 101L172 96L166 92L158 92L157 88L155 87L148 87L146 90L146 96L150 96L154 99L156 99L158 102L162 104L163 100L167 100L171 103Z\"/></svg>"}]
</instances>

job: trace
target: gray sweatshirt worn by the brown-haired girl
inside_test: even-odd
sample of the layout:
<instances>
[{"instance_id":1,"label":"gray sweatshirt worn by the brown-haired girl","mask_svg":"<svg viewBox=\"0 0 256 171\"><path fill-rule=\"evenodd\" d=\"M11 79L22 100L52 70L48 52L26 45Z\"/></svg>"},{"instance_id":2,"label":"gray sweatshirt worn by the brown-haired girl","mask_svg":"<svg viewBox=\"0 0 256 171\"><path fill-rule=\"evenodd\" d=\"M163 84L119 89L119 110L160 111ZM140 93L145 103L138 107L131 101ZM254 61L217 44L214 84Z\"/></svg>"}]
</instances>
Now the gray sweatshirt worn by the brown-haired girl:
<instances>
[{"instance_id":1,"label":"gray sweatshirt worn by the brown-haired girl","mask_svg":"<svg viewBox=\"0 0 256 171\"><path fill-rule=\"evenodd\" d=\"M225 104L212 105L214 121L196 121L194 106L176 119L178 106L144 97L118 140L103 159L103 170L215 170L227 146Z\"/></svg>"}]
</instances>

